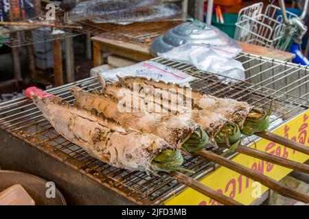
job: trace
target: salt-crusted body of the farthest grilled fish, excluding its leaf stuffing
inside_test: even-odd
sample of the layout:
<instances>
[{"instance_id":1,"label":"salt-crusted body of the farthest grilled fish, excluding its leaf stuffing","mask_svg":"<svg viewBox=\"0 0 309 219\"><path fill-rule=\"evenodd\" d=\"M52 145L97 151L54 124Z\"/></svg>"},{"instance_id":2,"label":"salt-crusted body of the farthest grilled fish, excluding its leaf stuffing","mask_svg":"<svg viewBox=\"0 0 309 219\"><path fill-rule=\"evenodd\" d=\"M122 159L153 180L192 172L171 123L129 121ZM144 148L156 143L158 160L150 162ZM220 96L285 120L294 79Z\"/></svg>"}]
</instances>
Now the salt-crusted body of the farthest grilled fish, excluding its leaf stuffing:
<instances>
[{"instance_id":1,"label":"salt-crusted body of the farthest grilled fish, excluding its leaf stuffing","mask_svg":"<svg viewBox=\"0 0 309 219\"><path fill-rule=\"evenodd\" d=\"M193 110L208 110L222 114L225 118L242 128L245 118L252 110L251 105L247 102L236 101L228 98L217 98L215 96L202 94L192 90L191 92L183 92L183 87L174 83L165 83L164 81L154 81L146 77L118 77L119 81L115 83L108 83L104 89L113 93L117 88L133 89L135 83L138 83L140 88L150 90L165 89L169 92L176 92L177 95L183 95L183 99L192 101ZM181 90L181 93L179 92ZM188 95L187 95L188 94ZM186 96L187 95L187 96Z\"/></svg>"}]
</instances>

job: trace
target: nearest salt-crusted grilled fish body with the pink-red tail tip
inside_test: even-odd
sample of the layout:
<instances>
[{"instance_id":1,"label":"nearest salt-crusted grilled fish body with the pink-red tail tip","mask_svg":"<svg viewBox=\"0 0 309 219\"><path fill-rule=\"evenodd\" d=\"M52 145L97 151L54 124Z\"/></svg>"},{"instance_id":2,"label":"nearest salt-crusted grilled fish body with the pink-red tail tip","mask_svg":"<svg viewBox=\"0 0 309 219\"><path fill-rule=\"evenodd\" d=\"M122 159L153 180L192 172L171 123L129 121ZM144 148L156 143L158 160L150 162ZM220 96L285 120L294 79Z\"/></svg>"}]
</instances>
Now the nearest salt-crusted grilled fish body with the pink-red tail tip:
<instances>
[{"instance_id":1,"label":"nearest salt-crusted grilled fish body with the pink-red tail tip","mask_svg":"<svg viewBox=\"0 0 309 219\"><path fill-rule=\"evenodd\" d=\"M61 103L58 97L32 98L58 133L111 166L153 172L152 159L171 148L158 136L127 131L80 107Z\"/></svg>"}]
</instances>

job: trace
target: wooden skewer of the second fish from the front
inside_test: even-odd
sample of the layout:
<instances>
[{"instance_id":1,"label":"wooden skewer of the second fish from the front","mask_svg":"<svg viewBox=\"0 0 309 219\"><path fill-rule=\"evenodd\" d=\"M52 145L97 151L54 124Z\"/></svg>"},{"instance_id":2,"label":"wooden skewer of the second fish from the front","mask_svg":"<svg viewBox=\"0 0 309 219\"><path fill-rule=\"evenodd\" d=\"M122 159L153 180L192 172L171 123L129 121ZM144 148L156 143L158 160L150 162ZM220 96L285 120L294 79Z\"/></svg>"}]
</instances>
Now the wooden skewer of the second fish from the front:
<instances>
[{"instance_id":1,"label":"wooden skewer of the second fish from the front","mask_svg":"<svg viewBox=\"0 0 309 219\"><path fill-rule=\"evenodd\" d=\"M297 190L294 190L293 188L288 188L288 186L284 185L283 183L279 183L275 181L274 179L271 179L270 177L266 177L265 175L262 175L260 172L255 172L254 170L251 170L250 168L247 168L246 166L242 166L236 162L233 162L230 159L221 157L220 155L216 155L215 153L211 153L206 150L198 151L194 154L199 155L201 157L205 157L206 159L209 159L211 162L215 162L217 164L220 164L221 166L225 166L226 168L229 168L235 172L240 173L241 175L249 177L250 179L253 179L254 181L259 181L266 187L270 188L271 190L274 190L275 192L278 192L282 196L293 198L297 201L301 201L304 203L309 203L308 194L298 192Z\"/></svg>"}]
</instances>

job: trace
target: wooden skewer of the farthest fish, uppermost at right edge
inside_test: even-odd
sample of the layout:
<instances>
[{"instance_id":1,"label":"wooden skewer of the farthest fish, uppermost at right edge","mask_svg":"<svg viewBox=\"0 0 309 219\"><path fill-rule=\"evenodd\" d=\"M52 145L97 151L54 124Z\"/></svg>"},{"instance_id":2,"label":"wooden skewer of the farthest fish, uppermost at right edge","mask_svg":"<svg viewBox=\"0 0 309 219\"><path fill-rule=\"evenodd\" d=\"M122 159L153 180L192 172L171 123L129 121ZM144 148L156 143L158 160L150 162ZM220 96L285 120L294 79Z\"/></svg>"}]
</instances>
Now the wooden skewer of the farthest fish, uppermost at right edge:
<instances>
[{"instance_id":1,"label":"wooden skewer of the farthest fish, uppermost at right edge","mask_svg":"<svg viewBox=\"0 0 309 219\"><path fill-rule=\"evenodd\" d=\"M266 131L263 131L263 132L255 133L255 136L265 138L267 140L270 140L271 142L281 144L281 145L286 146L290 149L294 149L295 151L299 151L301 153L309 155L309 146L305 146L303 144L300 144L299 142L294 142L293 140L289 140L288 138L278 136L274 133L271 133L271 132L267 133Z\"/></svg>"}]
</instances>

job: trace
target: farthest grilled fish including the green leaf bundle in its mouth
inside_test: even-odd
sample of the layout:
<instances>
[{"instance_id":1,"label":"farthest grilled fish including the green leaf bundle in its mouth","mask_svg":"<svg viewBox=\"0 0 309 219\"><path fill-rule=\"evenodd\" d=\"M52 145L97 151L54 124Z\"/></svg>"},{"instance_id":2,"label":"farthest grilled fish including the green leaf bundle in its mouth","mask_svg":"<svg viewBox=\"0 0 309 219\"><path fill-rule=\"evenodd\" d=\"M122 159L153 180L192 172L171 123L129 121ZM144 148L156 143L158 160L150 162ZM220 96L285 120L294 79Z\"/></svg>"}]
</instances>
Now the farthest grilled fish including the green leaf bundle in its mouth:
<instances>
[{"instance_id":1,"label":"farthest grilled fish including the green leaf bundle in its mouth","mask_svg":"<svg viewBox=\"0 0 309 219\"><path fill-rule=\"evenodd\" d=\"M256 132L265 131L269 126L268 114L262 109L252 107L249 103L234 99L217 98L194 90L183 92L181 86L173 83L149 80L145 77L119 77L119 81L106 85L105 89L108 92L114 92L115 87L124 87L132 90L136 83L139 84L140 89L148 89L155 92L156 88L159 88L159 90L165 89L168 92L183 95L183 100L192 103L191 106L193 109L209 110L222 114L227 120L236 123L242 130L242 133L247 136L251 136ZM184 103L184 105L188 104Z\"/></svg>"}]
</instances>

